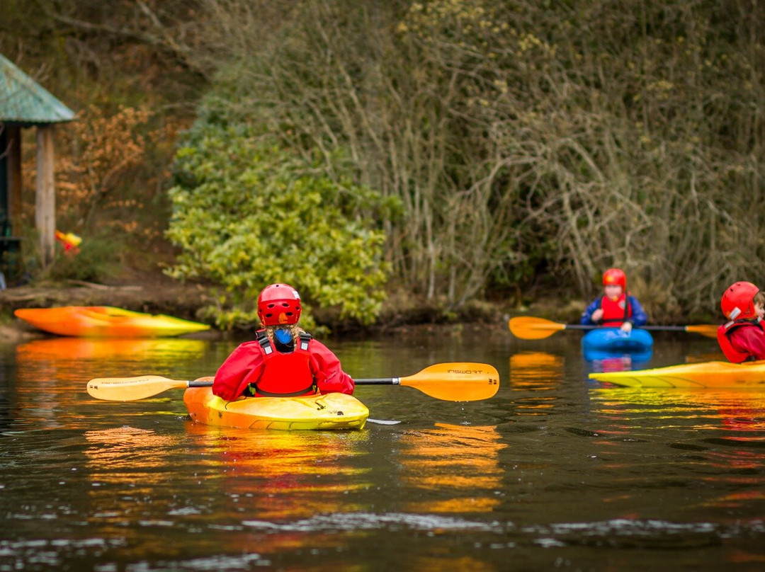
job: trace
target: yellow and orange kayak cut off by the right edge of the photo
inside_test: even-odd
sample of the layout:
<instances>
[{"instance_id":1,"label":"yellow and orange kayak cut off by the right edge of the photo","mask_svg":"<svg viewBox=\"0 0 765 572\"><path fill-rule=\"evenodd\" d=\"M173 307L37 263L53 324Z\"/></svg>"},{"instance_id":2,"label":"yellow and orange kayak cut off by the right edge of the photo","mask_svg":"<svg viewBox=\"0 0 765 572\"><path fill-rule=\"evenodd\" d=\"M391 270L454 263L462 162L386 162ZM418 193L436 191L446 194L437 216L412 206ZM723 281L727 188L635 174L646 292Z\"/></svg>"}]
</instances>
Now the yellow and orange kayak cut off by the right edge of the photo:
<instances>
[{"instance_id":1,"label":"yellow and orange kayak cut off by the right edge of the photo","mask_svg":"<svg viewBox=\"0 0 765 572\"><path fill-rule=\"evenodd\" d=\"M765 361L688 363L632 372L591 373L590 379L630 387L765 388Z\"/></svg>"}]
</instances>

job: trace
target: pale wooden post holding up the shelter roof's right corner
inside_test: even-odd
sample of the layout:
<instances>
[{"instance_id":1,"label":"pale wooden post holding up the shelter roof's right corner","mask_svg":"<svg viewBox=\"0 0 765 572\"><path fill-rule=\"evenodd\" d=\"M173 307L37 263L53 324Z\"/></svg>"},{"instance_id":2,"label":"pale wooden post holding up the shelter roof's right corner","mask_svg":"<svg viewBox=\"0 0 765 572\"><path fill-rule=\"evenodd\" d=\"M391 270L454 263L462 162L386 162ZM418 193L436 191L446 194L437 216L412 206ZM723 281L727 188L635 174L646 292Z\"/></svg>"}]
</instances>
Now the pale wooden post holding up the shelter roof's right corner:
<instances>
[{"instance_id":1,"label":"pale wooden post holding up the shelter roof's right corner","mask_svg":"<svg viewBox=\"0 0 765 572\"><path fill-rule=\"evenodd\" d=\"M53 125L37 128L37 189L34 197L34 224L40 233L43 267L53 262L56 246L56 190L54 187Z\"/></svg>"}]
</instances>

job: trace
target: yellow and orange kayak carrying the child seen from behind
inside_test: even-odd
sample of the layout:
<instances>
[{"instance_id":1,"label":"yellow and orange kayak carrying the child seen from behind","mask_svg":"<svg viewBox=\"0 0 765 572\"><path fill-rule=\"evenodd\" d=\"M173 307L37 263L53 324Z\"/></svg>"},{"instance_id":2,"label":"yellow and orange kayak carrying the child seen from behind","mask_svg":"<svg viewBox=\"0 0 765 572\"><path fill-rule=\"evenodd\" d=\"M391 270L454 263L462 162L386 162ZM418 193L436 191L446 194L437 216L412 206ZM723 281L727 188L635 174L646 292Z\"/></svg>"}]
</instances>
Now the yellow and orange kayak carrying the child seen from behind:
<instances>
[{"instance_id":1,"label":"yellow and orange kayak carrying the child seen from behind","mask_svg":"<svg viewBox=\"0 0 765 572\"><path fill-rule=\"evenodd\" d=\"M200 387L188 388L184 403L194 421L243 429L361 429L369 415L366 405L344 393L223 401Z\"/></svg>"}]
</instances>

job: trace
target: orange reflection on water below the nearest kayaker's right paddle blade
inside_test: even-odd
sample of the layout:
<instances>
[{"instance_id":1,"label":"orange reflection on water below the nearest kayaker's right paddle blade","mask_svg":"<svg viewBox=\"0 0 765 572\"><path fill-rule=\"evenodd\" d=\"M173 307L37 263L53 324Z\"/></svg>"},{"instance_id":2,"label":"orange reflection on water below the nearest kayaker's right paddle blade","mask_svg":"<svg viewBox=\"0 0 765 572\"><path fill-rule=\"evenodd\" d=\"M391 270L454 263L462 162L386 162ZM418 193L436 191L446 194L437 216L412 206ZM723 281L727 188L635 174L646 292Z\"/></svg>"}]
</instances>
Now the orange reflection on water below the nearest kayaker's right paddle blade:
<instances>
[{"instance_id":1,"label":"orange reflection on water below the nearest kayaker's right paddle blade","mask_svg":"<svg viewBox=\"0 0 765 572\"><path fill-rule=\"evenodd\" d=\"M404 434L402 482L416 489L448 492L447 499L409 502L414 512L490 512L500 503L504 470L496 426L436 424L435 429Z\"/></svg>"}]
</instances>

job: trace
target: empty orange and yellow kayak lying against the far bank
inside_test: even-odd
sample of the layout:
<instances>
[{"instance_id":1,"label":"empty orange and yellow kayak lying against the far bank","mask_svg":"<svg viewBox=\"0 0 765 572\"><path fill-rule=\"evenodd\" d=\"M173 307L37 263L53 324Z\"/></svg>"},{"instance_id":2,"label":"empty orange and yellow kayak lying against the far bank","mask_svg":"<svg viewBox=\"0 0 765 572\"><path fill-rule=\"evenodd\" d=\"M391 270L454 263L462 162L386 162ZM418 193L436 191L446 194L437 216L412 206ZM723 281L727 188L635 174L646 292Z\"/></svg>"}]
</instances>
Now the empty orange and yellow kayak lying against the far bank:
<instances>
[{"instance_id":1,"label":"empty orange and yellow kayak lying against the far bank","mask_svg":"<svg viewBox=\"0 0 765 572\"><path fill-rule=\"evenodd\" d=\"M60 336L151 338L210 329L205 323L110 306L26 308L14 314L40 330Z\"/></svg>"}]
</instances>

